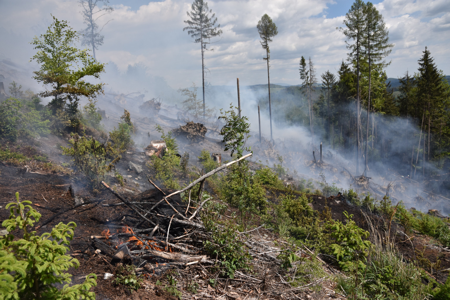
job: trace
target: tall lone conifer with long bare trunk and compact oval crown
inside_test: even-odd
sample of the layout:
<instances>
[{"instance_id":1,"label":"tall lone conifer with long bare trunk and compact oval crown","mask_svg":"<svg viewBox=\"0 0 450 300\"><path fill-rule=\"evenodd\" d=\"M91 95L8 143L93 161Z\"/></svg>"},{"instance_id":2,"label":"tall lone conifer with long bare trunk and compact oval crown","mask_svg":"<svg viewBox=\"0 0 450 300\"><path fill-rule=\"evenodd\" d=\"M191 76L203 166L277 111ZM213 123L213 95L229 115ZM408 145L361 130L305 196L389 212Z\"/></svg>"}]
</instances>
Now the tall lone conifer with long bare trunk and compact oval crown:
<instances>
[{"instance_id":1,"label":"tall lone conifer with long bare trunk and compact oval crown","mask_svg":"<svg viewBox=\"0 0 450 300\"><path fill-rule=\"evenodd\" d=\"M267 15L261 17L261 20L258 21L258 33L261 37L261 46L262 49L266 50L266 57L263 58L267 61L267 81L269 87L269 118L270 118L270 141L274 143L274 139L272 136L272 106L270 103L270 73L269 73L269 60L270 60L270 49L269 43L272 42L272 38L278 34L278 28L272 19Z\"/></svg>"}]
</instances>

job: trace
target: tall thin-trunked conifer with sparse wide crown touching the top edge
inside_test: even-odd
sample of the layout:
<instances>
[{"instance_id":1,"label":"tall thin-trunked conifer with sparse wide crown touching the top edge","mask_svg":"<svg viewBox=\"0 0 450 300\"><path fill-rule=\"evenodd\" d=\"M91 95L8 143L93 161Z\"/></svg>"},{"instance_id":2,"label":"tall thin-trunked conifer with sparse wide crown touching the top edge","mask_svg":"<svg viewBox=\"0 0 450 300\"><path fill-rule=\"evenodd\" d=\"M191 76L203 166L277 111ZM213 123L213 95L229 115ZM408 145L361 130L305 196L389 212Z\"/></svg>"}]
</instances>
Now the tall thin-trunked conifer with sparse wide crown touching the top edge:
<instances>
[{"instance_id":1,"label":"tall thin-trunked conifer with sparse wide crown touching the top edge","mask_svg":"<svg viewBox=\"0 0 450 300\"><path fill-rule=\"evenodd\" d=\"M222 30L220 24L216 25L217 18L216 14L213 13L211 17L209 13L212 13L212 9L208 10L208 3L203 0L194 0L192 6L192 11L188 14L189 20L184 21L188 24L187 27L183 28L183 31L187 30L188 34L194 38L196 43L200 43L200 48L202 49L202 86L203 86L203 117L206 117L206 106L205 106L205 51L213 50L207 49L207 45L211 44L211 38L215 36L220 36Z\"/></svg>"}]
</instances>

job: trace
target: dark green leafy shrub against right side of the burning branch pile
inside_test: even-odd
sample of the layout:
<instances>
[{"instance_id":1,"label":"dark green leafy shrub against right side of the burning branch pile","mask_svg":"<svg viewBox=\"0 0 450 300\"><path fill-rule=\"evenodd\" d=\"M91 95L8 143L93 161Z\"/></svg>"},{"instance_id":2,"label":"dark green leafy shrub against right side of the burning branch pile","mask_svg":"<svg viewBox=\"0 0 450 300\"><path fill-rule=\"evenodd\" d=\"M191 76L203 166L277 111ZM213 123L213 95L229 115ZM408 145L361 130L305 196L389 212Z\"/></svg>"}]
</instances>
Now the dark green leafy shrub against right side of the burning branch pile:
<instances>
[{"instance_id":1,"label":"dark green leafy shrub against right side of the burning branch pile","mask_svg":"<svg viewBox=\"0 0 450 300\"><path fill-rule=\"evenodd\" d=\"M251 256L241 242L243 236L237 233L238 228L235 223L205 215L203 224L211 233L211 237L203 241L203 249L211 257L220 260L222 276L234 278L234 271L251 269L251 265L248 264Z\"/></svg>"}]
</instances>

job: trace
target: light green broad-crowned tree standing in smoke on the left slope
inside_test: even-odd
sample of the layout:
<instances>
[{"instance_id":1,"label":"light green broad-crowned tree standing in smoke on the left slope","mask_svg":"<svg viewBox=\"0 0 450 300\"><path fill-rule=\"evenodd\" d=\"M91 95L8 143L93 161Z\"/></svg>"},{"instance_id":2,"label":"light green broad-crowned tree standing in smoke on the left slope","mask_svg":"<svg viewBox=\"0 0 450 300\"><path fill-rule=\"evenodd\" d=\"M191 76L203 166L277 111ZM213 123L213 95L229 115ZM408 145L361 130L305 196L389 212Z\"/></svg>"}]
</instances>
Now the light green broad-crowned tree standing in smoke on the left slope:
<instances>
[{"instance_id":1,"label":"light green broad-crowned tree standing in smoke on the left slope","mask_svg":"<svg viewBox=\"0 0 450 300\"><path fill-rule=\"evenodd\" d=\"M53 23L45 34L35 36L31 42L37 53L32 57L40 64L39 71L33 72L38 82L47 85L41 97L53 97L48 106L55 115L58 110L67 114L70 125L76 127L79 123L78 102L84 96L94 99L102 93L103 83L91 84L85 76L99 78L104 72L104 64L90 57L87 49L75 47L79 37L67 21L59 21L52 16Z\"/></svg>"}]
</instances>

